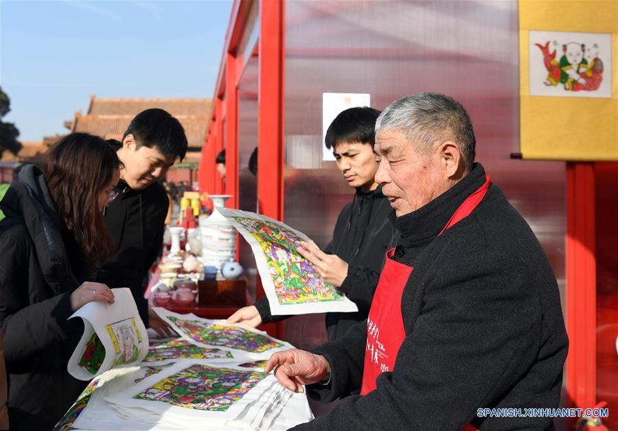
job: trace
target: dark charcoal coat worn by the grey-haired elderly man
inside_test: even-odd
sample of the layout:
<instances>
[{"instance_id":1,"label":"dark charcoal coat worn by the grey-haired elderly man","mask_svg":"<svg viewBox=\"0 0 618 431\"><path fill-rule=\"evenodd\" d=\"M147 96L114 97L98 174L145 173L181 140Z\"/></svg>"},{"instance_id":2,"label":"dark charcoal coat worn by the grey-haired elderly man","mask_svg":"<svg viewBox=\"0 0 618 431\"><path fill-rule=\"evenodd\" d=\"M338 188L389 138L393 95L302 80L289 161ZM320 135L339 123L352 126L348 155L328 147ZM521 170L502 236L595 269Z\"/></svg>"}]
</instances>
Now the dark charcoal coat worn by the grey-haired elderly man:
<instances>
[{"instance_id":1,"label":"dark charcoal coat worn by the grey-haired elderly man","mask_svg":"<svg viewBox=\"0 0 618 431\"><path fill-rule=\"evenodd\" d=\"M499 187L438 235L484 181L476 164L453 188L396 219L395 259L414 269L402 294L406 337L394 369L380 374L375 391L295 429L553 428L549 417L477 417L478 408L557 408L568 344L549 260ZM308 395L330 401L361 388L366 342L361 323L315 349L331 380L307 386Z\"/></svg>"}]
</instances>

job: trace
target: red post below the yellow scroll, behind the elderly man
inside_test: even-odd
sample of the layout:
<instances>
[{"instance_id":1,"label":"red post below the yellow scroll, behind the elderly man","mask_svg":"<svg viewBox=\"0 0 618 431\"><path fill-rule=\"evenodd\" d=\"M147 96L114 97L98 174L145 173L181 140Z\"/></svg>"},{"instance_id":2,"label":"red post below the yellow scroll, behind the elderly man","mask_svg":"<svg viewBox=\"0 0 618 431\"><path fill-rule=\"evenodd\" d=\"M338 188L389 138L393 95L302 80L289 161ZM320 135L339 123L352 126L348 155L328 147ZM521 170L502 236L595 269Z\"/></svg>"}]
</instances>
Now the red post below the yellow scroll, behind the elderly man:
<instances>
[{"instance_id":1,"label":"red post below the yellow scroll, behind the elderly man","mask_svg":"<svg viewBox=\"0 0 618 431\"><path fill-rule=\"evenodd\" d=\"M596 404L596 313L594 165L567 163L567 395L579 408Z\"/></svg>"}]
</instances>

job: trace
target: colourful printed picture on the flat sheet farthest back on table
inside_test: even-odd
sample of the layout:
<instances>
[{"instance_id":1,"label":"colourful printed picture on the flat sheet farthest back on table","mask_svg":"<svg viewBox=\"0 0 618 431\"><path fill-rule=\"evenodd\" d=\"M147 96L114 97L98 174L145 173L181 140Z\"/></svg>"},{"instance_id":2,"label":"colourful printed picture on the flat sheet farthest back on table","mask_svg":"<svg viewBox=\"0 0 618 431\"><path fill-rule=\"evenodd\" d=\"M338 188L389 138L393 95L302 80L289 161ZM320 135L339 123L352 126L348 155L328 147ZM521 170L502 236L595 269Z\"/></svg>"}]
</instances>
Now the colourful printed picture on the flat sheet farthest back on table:
<instances>
[{"instance_id":1,"label":"colourful printed picture on the flat sheet farthest back on table","mask_svg":"<svg viewBox=\"0 0 618 431\"><path fill-rule=\"evenodd\" d=\"M206 345L228 347L229 349L253 353L262 353L269 349L283 347L280 342L240 327L185 320L174 316L167 316L167 318L179 327L183 334Z\"/></svg>"}]
</instances>

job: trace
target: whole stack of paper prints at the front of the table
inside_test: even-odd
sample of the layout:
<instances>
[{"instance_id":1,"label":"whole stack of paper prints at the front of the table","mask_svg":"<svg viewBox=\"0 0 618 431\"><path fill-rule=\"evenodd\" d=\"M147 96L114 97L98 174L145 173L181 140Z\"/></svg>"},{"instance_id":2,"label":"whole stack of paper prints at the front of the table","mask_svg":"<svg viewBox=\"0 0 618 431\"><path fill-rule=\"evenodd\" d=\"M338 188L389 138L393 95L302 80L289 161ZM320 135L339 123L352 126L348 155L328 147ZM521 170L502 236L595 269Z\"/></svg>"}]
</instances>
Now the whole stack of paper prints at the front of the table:
<instances>
[{"instance_id":1,"label":"whole stack of paper prints at the front of the table","mask_svg":"<svg viewBox=\"0 0 618 431\"><path fill-rule=\"evenodd\" d=\"M285 430L313 418L304 394L238 362L179 360L97 377L56 430Z\"/></svg>"}]
</instances>

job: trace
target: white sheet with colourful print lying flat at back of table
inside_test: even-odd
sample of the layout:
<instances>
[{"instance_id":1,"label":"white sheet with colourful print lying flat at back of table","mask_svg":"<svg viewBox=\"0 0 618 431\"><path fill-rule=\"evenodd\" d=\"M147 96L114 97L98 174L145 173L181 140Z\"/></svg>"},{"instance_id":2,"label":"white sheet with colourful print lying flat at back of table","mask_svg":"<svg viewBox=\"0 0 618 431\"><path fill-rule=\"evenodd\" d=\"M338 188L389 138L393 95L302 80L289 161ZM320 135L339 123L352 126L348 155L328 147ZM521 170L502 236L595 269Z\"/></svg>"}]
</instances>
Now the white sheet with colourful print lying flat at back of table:
<instances>
[{"instance_id":1,"label":"white sheet with colourful print lying flat at back of table","mask_svg":"<svg viewBox=\"0 0 618 431\"><path fill-rule=\"evenodd\" d=\"M178 314L153 307L159 317L192 344L209 349L227 349L236 360L268 359L275 351L293 349L290 343L277 340L258 329L201 318L195 314Z\"/></svg>"}]
</instances>

